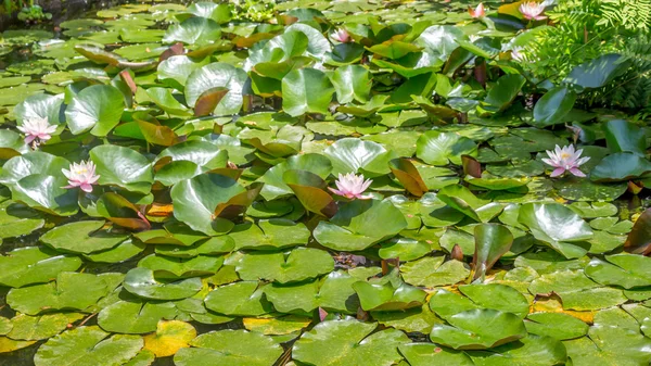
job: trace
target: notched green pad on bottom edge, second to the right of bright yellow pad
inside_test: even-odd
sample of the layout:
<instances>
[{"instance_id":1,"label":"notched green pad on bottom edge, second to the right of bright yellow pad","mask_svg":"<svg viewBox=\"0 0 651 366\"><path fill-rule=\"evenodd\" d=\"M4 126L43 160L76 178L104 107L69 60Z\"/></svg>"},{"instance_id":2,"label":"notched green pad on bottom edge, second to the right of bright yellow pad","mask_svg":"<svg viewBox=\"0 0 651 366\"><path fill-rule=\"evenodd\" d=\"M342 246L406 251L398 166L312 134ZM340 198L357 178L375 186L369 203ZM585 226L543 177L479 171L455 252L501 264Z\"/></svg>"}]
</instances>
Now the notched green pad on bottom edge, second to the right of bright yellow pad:
<instances>
[{"instance_id":1,"label":"notched green pad on bottom edge, second to the right of bright yellow pad","mask_svg":"<svg viewBox=\"0 0 651 366\"><path fill-rule=\"evenodd\" d=\"M394 365L403 358L398 345L409 339L391 328L371 335L375 327L374 323L357 320L319 323L294 343L292 354L295 359L312 365Z\"/></svg>"}]
</instances>

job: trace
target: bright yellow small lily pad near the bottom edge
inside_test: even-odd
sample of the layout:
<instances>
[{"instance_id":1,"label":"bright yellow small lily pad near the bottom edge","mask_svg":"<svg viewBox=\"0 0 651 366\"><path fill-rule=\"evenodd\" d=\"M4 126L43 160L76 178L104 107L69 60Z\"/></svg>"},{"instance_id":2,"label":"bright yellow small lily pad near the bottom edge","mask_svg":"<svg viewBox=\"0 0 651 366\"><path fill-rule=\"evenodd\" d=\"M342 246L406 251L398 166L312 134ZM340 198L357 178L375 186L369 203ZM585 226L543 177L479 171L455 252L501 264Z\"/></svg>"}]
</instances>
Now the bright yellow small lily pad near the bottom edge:
<instances>
[{"instance_id":1,"label":"bright yellow small lily pad near the bottom edge","mask_svg":"<svg viewBox=\"0 0 651 366\"><path fill-rule=\"evenodd\" d=\"M144 349L152 351L156 357L167 357L188 344L196 337L196 329L186 321L161 320L156 332L144 336Z\"/></svg>"}]
</instances>

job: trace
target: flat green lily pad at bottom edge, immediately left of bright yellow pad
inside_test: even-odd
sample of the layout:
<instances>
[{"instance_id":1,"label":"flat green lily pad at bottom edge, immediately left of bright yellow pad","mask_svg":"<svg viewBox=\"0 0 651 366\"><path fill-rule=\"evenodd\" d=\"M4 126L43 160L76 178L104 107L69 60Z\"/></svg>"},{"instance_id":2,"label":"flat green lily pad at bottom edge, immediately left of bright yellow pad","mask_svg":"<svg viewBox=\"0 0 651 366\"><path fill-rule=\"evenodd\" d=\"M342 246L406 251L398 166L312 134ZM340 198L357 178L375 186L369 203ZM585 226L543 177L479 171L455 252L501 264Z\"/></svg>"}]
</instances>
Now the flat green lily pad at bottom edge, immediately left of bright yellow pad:
<instances>
[{"instance_id":1,"label":"flat green lily pad at bottom edge, immediately left of bright yellow pad","mask_svg":"<svg viewBox=\"0 0 651 366\"><path fill-rule=\"evenodd\" d=\"M110 337L99 327L79 327L48 340L36 352L37 366L91 363L98 366L124 364L142 349L140 337ZM82 359L82 361L81 361Z\"/></svg>"}]
</instances>

